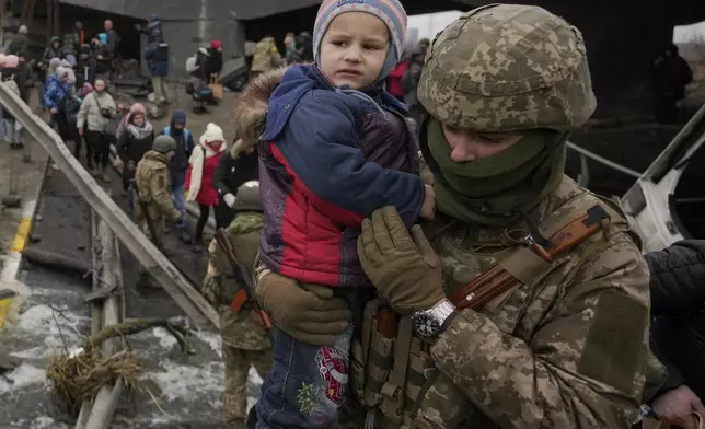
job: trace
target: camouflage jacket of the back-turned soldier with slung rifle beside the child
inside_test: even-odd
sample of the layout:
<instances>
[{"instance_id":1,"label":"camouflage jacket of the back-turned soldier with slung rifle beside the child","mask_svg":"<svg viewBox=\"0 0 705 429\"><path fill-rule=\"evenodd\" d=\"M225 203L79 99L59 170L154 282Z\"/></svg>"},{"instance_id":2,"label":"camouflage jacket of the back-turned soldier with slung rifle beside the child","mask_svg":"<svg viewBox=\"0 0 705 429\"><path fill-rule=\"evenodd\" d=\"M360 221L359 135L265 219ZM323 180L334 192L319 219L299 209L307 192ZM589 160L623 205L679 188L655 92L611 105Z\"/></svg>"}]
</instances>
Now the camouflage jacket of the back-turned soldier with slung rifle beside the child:
<instances>
[{"instance_id":1,"label":"camouflage jacket of the back-turned soldier with slung rifle beside the child","mask_svg":"<svg viewBox=\"0 0 705 429\"><path fill-rule=\"evenodd\" d=\"M263 228L264 216L262 213L241 212L226 230L233 245L235 257L246 268L252 269L254 266ZM230 302L239 286L230 275L232 268L216 240L210 243L208 252L210 258L208 273L204 279L203 293L218 309L223 345L244 350L271 348L269 334L262 327L259 320L249 304L245 304L238 315L230 310Z\"/></svg>"}]
</instances>

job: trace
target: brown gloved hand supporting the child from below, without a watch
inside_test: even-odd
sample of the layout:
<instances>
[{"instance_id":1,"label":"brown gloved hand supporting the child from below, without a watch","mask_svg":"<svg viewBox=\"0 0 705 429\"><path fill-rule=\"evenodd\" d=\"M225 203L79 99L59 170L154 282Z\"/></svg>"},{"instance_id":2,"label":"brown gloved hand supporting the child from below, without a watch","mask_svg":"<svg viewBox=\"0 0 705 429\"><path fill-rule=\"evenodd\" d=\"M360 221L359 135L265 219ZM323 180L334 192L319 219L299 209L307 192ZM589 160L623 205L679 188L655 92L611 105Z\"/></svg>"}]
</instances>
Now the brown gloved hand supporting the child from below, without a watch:
<instances>
[{"instance_id":1,"label":"brown gloved hand supporting the child from below, without a watch","mask_svg":"<svg viewBox=\"0 0 705 429\"><path fill-rule=\"evenodd\" d=\"M276 273L259 278L257 299L280 329L315 346L333 346L352 320L347 302L334 297L333 288L302 286Z\"/></svg>"}]
</instances>

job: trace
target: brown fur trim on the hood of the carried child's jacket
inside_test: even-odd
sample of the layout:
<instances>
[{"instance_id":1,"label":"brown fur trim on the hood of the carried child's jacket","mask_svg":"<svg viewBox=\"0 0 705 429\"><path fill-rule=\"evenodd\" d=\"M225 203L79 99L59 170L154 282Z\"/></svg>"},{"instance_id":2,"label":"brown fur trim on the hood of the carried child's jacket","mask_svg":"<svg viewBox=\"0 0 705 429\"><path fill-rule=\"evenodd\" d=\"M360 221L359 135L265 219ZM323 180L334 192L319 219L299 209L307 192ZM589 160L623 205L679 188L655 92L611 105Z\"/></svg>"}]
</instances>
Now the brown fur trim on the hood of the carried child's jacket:
<instances>
[{"instance_id":1,"label":"brown fur trim on the hood of the carried child's jacket","mask_svg":"<svg viewBox=\"0 0 705 429\"><path fill-rule=\"evenodd\" d=\"M269 97L281 83L287 67L266 71L247 84L238 97L233 116L238 141L231 149L233 158L247 148L255 147L264 132Z\"/></svg>"}]
</instances>

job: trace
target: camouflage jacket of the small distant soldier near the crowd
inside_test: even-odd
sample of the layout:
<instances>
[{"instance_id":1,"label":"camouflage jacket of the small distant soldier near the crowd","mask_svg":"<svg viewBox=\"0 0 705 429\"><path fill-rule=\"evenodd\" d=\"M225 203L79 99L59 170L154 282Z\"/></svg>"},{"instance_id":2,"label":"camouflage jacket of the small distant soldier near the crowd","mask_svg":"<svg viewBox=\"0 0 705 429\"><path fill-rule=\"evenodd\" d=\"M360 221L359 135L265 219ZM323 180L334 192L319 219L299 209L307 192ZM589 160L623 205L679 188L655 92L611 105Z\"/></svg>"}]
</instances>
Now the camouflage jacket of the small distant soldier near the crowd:
<instances>
[{"instance_id":1,"label":"camouflage jacket of the small distant soldier near the crowd","mask_svg":"<svg viewBox=\"0 0 705 429\"><path fill-rule=\"evenodd\" d=\"M181 213L172 200L170 163L165 154L154 150L147 152L137 164L135 182L139 188L136 197L147 202L149 216L152 219L162 216L178 219ZM140 208L138 208L139 211L141 211Z\"/></svg>"}]
</instances>

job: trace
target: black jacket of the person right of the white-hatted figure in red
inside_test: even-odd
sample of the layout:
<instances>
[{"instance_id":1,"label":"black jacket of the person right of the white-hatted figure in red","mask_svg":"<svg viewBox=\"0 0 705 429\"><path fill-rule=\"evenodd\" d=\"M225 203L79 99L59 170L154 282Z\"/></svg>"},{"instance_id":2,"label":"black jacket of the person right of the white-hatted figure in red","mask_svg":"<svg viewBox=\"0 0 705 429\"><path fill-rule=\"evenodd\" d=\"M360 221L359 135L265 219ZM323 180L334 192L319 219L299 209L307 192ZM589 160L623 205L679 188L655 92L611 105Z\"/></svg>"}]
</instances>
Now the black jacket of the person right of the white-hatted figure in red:
<instances>
[{"instance_id":1,"label":"black jacket of the person right of the white-hatted figure in red","mask_svg":"<svg viewBox=\"0 0 705 429\"><path fill-rule=\"evenodd\" d=\"M226 194L236 196L238 188L245 182L259 178L257 152L246 154L241 148L242 144L236 142L218 160L213 187L221 200Z\"/></svg>"}]
</instances>

